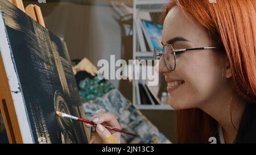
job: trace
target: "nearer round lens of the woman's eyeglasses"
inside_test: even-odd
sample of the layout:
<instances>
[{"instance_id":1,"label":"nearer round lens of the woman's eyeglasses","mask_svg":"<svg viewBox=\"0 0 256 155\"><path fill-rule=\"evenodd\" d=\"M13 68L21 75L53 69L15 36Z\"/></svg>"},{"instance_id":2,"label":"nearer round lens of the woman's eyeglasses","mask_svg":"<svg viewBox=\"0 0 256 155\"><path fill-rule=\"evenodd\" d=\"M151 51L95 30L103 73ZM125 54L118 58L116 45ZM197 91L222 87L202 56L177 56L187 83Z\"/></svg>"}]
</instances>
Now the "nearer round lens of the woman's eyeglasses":
<instances>
[{"instance_id":1,"label":"nearer round lens of the woman's eyeglasses","mask_svg":"<svg viewBox=\"0 0 256 155\"><path fill-rule=\"evenodd\" d=\"M164 63L166 64L167 68L170 70L174 70L175 68L175 53L171 45L164 45L163 48L163 58Z\"/></svg>"}]
</instances>

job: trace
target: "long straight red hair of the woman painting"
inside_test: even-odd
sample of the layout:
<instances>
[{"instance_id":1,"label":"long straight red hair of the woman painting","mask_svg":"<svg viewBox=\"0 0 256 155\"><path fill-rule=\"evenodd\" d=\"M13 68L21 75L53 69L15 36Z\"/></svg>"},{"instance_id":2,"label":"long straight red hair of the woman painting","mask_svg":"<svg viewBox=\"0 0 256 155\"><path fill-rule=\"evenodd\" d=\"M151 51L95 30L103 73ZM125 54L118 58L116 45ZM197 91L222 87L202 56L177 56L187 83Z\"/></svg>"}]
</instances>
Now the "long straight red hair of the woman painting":
<instances>
[{"instance_id":1,"label":"long straight red hair of the woman painting","mask_svg":"<svg viewBox=\"0 0 256 155\"><path fill-rule=\"evenodd\" d=\"M236 94L256 102L256 1L173 0L164 7L163 17L173 6L196 19L218 36L228 57ZM208 143L216 136L217 122L200 109L177 111L179 143Z\"/></svg>"}]
</instances>

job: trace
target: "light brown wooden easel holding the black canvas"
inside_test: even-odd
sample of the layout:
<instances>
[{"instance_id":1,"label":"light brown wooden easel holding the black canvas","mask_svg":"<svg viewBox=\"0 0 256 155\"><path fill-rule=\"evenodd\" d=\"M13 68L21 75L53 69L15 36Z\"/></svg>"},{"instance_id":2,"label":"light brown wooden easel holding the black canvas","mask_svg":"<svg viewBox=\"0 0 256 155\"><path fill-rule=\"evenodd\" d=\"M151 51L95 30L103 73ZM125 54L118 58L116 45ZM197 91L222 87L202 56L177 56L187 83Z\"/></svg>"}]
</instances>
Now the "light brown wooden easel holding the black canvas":
<instances>
[{"instance_id":1,"label":"light brown wooden easel holding the black canvas","mask_svg":"<svg viewBox=\"0 0 256 155\"><path fill-rule=\"evenodd\" d=\"M27 15L31 16L34 20L45 27L43 15L39 6L28 5L24 9L22 0L9 0L13 5L18 7ZM22 136L20 133L20 128L18 124L18 119L15 113L13 98L11 97L11 91L9 88L9 81L6 76L5 66L3 65L2 56L0 53L0 109L3 116L3 122L5 123L5 128L9 143L23 143Z\"/></svg>"}]
</instances>

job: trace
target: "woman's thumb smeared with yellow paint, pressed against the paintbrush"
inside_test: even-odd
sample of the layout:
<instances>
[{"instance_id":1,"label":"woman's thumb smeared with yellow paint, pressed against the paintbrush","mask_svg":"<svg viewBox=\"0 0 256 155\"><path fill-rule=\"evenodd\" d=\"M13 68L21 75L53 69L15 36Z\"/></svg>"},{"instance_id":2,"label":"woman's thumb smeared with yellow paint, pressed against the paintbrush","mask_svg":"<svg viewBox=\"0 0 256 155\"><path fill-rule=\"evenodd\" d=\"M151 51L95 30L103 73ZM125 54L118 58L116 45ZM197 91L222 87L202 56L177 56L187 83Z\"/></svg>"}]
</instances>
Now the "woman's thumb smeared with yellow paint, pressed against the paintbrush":
<instances>
[{"instance_id":1,"label":"woman's thumb smeared with yellow paint, pressed against the paintbrush","mask_svg":"<svg viewBox=\"0 0 256 155\"><path fill-rule=\"evenodd\" d=\"M98 133L98 136L101 137L103 143L106 143L106 144L115 143L112 134L103 125L97 124L96 132Z\"/></svg>"}]
</instances>

